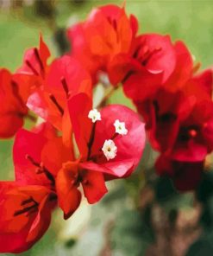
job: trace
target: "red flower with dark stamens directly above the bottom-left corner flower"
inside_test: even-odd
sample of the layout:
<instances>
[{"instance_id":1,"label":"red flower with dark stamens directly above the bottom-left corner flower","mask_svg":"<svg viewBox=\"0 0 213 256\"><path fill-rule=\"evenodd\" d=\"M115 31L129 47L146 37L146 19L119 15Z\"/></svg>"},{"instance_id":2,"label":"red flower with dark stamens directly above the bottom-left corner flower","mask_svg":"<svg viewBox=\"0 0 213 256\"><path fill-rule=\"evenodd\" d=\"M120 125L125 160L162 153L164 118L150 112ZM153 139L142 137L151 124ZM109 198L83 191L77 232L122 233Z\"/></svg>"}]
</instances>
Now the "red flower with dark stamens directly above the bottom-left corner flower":
<instances>
[{"instance_id":1,"label":"red flower with dark stamens directly above the bottom-left corner flower","mask_svg":"<svg viewBox=\"0 0 213 256\"><path fill-rule=\"evenodd\" d=\"M49 189L54 189L55 176L62 163L73 159L72 150L64 146L62 138L46 123L34 131L21 129L17 132L13 157L16 182Z\"/></svg>"}]
</instances>

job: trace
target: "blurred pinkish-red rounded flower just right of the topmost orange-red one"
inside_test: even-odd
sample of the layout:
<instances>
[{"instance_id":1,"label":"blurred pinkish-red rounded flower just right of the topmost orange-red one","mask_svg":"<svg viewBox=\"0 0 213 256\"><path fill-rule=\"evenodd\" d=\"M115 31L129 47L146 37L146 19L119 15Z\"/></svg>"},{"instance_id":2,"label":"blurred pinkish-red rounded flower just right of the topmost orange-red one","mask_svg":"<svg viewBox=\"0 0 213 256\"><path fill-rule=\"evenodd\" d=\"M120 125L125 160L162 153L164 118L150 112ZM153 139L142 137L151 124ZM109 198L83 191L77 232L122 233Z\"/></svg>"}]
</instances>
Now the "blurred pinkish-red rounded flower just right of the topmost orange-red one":
<instances>
[{"instance_id":1,"label":"blurred pinkish-red rounded flower just right of the topmost orange-red one","mask_svg":"<svg viewBox=\"0 0 213 256\"><path fill-rule=\"evenodd\" d=\"M175 48L169 35L138 36L128 54L119 54L111 61L110 80L123 83L128 98L142 100L166 82L176 64Z\"/></svg>"}]
</instances>

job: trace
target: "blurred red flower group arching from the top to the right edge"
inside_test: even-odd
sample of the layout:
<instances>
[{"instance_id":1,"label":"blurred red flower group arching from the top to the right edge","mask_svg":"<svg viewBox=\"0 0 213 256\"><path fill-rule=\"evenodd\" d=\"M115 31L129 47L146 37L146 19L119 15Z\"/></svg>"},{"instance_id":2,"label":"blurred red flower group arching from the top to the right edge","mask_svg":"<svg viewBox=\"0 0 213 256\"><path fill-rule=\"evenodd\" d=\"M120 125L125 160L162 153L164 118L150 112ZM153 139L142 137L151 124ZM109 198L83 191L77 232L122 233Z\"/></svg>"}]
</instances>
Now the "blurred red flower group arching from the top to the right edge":
<instances>
[{"instance_id":1,"label":"blurred red flower group arching from the top to the right edge","mask_svg":"<svg viewBox=\"0 0 213 256\"><path fill-rule=\"evenodd\" d=\"M93 80L101 71L133 100L160 152L158 174L172 177L179 190L194 189L213 150L212 69L198 72L184 42L137 31L135 16L111 5L93 10L67 34Z\"/></svg>"}]
</instances>

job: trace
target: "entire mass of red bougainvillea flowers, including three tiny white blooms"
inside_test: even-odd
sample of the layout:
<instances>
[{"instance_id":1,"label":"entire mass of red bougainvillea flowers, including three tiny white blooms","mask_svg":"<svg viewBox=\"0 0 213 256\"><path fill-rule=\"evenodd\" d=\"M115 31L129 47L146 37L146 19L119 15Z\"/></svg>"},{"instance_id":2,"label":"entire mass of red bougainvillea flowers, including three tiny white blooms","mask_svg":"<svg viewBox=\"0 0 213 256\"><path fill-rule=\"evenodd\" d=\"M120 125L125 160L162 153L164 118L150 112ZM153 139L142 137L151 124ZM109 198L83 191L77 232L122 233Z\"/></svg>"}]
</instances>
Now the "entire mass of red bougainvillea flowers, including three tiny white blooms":
<instances>
[{"instance_id":1,"label":"entire mass of red bougainvillea flowers, including three tiny white blooms","mask_svg":"<svg viewBox=\"0 0 213 256\"><path fill-rule=\"evenodd\" d=\"M140 115L105 100L93 106L102 74L114 89L122 85L143 117L160 151L158 173L178 189L197 185L213 149L212 70L197 74L183 42L137 32L124 7L103 6L67 30L71 53L49 62L41 36L14 74L0 70L0 138L15 136L16 176L0 182L0 253L27 250L46 232L54 208L68 219L83 195L98 202L105 182L131 175L141 160ZM22 128L26 118L38 120L31 131Z\"/></svg>"}]
</instances>

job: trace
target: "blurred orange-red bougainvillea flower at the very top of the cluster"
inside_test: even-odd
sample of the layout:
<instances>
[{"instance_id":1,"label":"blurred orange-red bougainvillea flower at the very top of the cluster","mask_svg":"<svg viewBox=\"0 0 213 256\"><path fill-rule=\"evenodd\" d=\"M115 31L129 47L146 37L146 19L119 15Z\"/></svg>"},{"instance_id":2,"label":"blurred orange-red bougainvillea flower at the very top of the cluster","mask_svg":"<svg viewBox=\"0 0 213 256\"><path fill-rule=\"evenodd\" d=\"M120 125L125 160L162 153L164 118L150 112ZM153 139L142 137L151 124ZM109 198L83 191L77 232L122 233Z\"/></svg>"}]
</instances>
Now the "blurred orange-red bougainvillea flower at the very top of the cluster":
<instances>
[{"instance_id":1,"label":"blurred orange-red bougainvillea flower at the very top of the cluster","mask_svg":"<svg viewBox=\"0 0 213 256\"><path fill-rule=\"evenodd\" d=\"M126 54L138 29L135 16L124 8L106 5L91 11L87 20L68 29L72 55L84 63L94 81L98 70L106 71L116 54Z\"/></svg>"}]
</instances>

